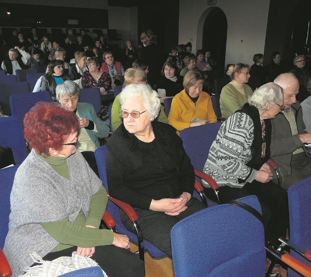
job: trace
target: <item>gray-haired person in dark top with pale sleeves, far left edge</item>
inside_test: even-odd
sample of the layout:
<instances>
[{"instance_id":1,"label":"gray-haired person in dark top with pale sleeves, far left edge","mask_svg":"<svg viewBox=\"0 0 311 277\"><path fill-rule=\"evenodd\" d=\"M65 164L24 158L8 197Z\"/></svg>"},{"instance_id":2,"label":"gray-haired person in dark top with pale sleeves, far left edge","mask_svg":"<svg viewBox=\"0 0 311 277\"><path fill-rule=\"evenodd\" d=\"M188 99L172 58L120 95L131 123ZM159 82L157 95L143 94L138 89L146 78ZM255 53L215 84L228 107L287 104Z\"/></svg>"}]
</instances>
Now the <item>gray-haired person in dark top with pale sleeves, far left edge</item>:
<instances>
[{"instance_id":1,"label":"gray-haired person in dark top with pale sleeves, far left edge","mask_svg":"<svg viewBox=\"0 0 311 277\"><path fill-rule=\"evenodd\" d=\"M28 69L26 64L29 59L30 54L16 46L9 50L9 56L3 60L1 69L3 69L7 75L16 75L16 69Z\"/></svg>"}]
</instances>

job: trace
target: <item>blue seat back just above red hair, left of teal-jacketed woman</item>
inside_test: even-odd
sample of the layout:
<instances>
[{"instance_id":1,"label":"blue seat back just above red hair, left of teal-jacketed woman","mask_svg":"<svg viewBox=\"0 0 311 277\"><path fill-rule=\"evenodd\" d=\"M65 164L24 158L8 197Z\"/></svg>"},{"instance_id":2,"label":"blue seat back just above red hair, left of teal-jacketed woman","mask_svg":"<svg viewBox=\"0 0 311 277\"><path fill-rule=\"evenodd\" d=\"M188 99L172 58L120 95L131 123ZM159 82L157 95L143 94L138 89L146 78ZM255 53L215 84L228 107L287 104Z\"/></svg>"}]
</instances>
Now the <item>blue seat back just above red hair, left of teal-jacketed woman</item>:
<instances>
[{"instance_id":1,"label":"blue seat back just above red hair, left of teal-jacketed woman","mask_svg":"<svg viewBox=\"0 0 311 277\"><path fill-rule=\"evenodd\" d=\"M52 102L49 91L35 93L14 93L10 96L10 107L12 116L24 119L25 114L38 102Z\"/></svg>"}]
</instances>

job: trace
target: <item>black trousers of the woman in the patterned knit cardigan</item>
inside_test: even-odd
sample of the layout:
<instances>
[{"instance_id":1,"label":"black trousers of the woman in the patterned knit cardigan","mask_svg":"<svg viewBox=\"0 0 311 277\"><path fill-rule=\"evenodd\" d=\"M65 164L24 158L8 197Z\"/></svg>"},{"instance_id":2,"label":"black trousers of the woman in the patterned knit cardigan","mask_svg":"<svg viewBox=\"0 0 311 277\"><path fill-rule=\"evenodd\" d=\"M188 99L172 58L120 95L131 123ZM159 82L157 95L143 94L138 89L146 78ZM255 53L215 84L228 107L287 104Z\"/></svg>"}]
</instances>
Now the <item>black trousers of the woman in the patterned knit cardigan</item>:
<instances>
[{"instance_id":1,"label":"black trousers of the woman in the patterned knit cardigan","mask_svg":"<svg viewBox=\"0 0 311 277\"><path fill-rule=\"evenodd\" d=\"M214 190L204 189L206 196L217 202ZM278 238L286 237L286 228L289 222L288 199L286 190L282 189L273 182L260 183L254 180L246 183L242 189L222 186L219 188L219 200L221 204L231 200L256 195L262 210L264 222L265 240L272 245L278 246Z\"/></svg>"}]
</instances>

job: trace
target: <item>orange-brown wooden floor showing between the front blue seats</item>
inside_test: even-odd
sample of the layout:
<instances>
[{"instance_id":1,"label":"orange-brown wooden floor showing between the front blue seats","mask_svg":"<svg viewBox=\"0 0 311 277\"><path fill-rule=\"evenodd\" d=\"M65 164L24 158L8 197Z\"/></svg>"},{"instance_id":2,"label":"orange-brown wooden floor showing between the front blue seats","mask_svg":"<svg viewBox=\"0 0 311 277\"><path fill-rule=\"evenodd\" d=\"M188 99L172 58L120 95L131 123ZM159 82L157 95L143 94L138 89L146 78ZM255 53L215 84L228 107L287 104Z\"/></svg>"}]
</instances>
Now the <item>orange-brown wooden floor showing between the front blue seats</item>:
<instances>
[{"instance_id":1,"label":"orange-brown wooden floor showing between the front blue seats","mask_svg":"<svg viewBox=\"0 0 311 277\"><path fill-rule=\"evenodd\" d=\"M138 246L130 242L131 251L138 251ZM173 262L170 258L153 259L148 252L145 252L146 277L174 277ZM282 277L287 277L287 271L283 268Z\"/></svg>"}]
</instances>

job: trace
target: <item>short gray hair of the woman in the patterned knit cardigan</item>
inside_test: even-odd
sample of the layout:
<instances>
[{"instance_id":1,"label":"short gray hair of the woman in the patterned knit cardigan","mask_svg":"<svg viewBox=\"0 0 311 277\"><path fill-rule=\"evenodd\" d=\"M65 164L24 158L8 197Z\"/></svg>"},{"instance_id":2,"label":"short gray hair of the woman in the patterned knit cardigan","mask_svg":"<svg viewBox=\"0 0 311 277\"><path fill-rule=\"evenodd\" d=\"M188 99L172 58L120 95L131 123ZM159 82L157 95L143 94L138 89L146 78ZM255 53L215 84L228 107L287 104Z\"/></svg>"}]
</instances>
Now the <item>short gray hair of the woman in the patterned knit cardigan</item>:
<instances>
[{"instance_id":1,"label":"short gray hair of the woman in the patterned knit cardigan","mask_svg":"<svg viewBox=\"0 0 311 277\"><path fill-rule=\"evenodd\" d=\"M254 91L248 98L248 104L264 111L267 109L266 103L278 104L283 100L283 88L275 83L267 83Z\"/></svg>"}]
</instances>

